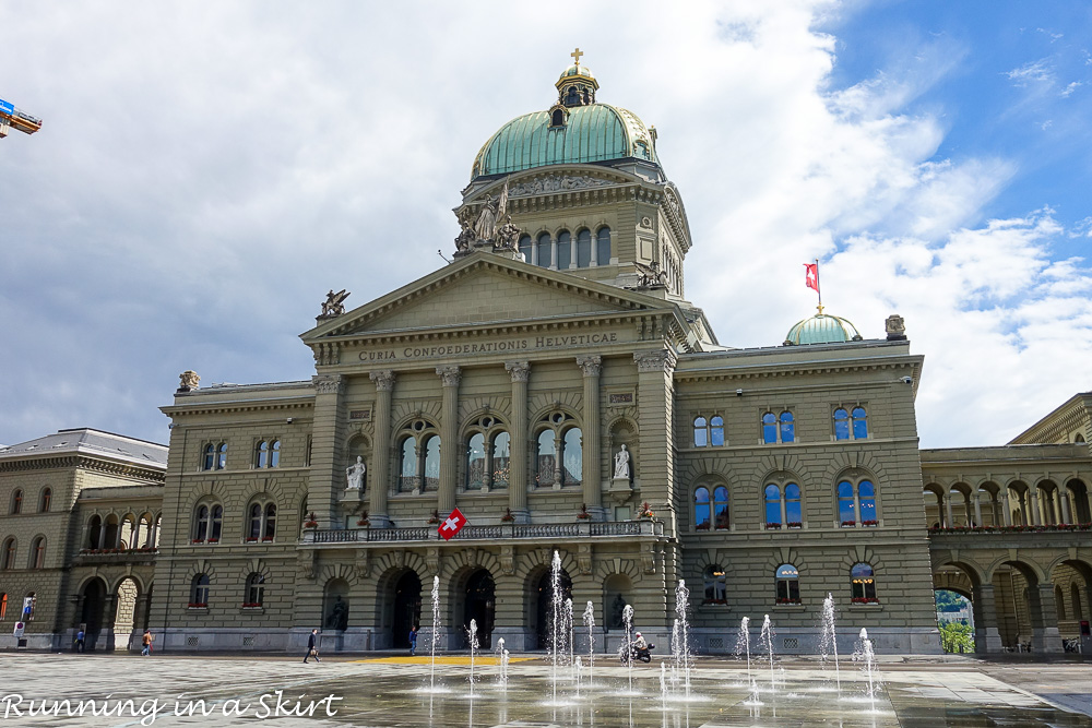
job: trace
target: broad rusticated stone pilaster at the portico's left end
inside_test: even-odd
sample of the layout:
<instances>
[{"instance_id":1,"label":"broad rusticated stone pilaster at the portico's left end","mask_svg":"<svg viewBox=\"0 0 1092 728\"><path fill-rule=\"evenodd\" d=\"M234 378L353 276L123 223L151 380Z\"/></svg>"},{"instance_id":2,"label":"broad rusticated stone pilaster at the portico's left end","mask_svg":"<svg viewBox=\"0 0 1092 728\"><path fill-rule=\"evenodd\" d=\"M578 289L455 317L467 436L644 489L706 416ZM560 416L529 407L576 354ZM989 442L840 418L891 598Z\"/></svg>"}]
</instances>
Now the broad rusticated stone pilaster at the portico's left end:
<instances>
[{"instance_id":1,"label":"broad rusticated stone pilaster at the portico's left end","mask_svg":"<svg viewBox=\"0 0 1092 728\"><path fill-rule=\"evenodd\" d=\"M341 374L316 374L314 423L311 430L311 474L307 485L307 509L322 528L340 528L334 488L341 488L345 472L337 457L344 441L344 403L342 392L345 379ZM336 484L336 486L335 486Z\"/></svg>"}]
</instances>

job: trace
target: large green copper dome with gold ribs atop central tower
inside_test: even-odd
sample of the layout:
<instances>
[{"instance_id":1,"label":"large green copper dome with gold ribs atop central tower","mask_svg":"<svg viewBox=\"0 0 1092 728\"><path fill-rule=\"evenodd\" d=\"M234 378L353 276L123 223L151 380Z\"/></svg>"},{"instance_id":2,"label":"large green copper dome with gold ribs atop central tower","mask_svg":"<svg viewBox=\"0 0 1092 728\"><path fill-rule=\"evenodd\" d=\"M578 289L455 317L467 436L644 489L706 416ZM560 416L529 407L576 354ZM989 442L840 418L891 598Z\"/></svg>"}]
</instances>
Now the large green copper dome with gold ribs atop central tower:
<instances>
[{"instance_id":1,"label":"large green copper dome with gold ribs atop central tower","mask_svg":"<svg viewBox=\"0 0 1092 728\"><path fill-rule=\"evenodd\" d=\"M506 123L478 152L471 176L609 159L656 162L652 134L631 111L590 104L565 112L563 126L551 126L549 111L524 114Z\"/></svg>"}]
</instances>

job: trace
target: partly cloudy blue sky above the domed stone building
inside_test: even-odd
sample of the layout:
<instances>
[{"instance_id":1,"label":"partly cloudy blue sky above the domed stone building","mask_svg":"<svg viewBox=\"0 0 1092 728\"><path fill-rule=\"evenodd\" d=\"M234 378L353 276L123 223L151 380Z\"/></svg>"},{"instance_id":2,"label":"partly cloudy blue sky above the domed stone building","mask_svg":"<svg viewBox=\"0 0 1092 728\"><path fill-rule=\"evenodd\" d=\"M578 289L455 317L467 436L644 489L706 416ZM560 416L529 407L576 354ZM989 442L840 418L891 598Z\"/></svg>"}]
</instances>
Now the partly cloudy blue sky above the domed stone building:
<instances>
[{"instance_id":1,"label":"partly cloudy blue sky above the domed stone building","mask_svg":"<svg viewBox=\"0 0 1092 728\"><path fill-rule=\"evenodd\" d=\"M443 265L474 155L580 46L660 132L722 344L906 320L926 446L1092 390L1092 10L1075 2L0 4L0 443L166 441L178 373L306 379L330 288ZM972 415L969 417L968 413Z\"/></svg>"}]
</instances>

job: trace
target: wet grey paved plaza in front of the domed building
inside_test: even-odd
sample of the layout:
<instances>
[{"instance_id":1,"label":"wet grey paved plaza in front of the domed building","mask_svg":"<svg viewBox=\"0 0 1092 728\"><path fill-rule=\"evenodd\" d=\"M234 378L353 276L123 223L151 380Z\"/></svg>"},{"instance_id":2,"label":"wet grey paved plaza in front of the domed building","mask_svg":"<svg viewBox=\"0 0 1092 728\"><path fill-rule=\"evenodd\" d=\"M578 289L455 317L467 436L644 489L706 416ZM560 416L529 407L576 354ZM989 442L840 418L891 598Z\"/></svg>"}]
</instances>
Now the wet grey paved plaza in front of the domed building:
<instances>
[{"instance_id":1,"label":"wet grey paved plaza in front of the domed building","mask_svg":"<svg viewBox=\"0 0 1092 728\"><path fill-rule=\"evenodd\" d=\"M637 666L632 673L608 656L596 658L591 672L586 665L583 668L579 681L568 668L558 669L554 680L555 670L542 656L512 657L506 687L494 658L475 660L472 684L466 656L440 658L434 668L427 656L337 657L304 665L287 656L9 653L0 656L0 721L10 726L280 726L306 720L309 726L467 728L1092 728L1088 715L1092 666L1082 663L887 658L879 667L882 685L875 703L867 697L864 675L852 663L840 671L841 699L833 672L814 661L779 660L772 672L769 664L755 663L757 705L745 665L733 659L697 659L689 699L685 676L676 673L673 681L669 666L662 668L656 660ZM48 713L32 716L29 711L40 711L43 700ZM64 700L73 709L93 701L94 708L107 714L94 716L92 704L84 703L84 715L70 717L68 705L60 703L57 715L56 702Z\"/></svg>"}]
</instances>

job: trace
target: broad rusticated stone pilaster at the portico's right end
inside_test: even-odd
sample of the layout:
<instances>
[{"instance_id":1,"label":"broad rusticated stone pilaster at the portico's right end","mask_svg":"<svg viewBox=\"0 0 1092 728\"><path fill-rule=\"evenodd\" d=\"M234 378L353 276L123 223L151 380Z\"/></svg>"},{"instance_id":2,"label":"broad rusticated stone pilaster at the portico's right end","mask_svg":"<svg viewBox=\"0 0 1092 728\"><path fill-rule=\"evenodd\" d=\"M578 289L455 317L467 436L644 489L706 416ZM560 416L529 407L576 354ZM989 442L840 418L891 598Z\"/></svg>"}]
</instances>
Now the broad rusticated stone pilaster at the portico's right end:
<instances>
[{"instance_id":1,"label":"broad rusticated stone pilaster at the portico's right end","mask_svg":"<svg viewBox=\"0 0 1092 728\"><path fill-rule=\"evenodd\" d=\"M674 421L675 353L670 349L634 351L637 363L638 431L641 433L641 500L649 501L653 511L664 514L667 530L674 537L677 524L675 503L675 443L667 422ZM652 433L663 432L664 437Z\"/></svg>"}]
</instances>

